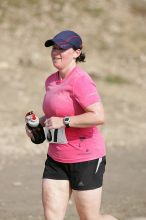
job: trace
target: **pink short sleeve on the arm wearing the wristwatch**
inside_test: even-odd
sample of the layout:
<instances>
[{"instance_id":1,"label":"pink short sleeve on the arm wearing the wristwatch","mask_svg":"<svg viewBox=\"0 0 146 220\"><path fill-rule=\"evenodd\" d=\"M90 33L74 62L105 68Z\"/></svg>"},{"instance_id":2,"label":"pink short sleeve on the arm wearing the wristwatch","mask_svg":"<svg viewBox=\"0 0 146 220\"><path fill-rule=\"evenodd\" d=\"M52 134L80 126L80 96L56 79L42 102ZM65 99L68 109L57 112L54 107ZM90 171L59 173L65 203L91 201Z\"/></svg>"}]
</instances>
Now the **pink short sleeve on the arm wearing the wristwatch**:
<instances>
[{"instance_id":1,"label":"pink short sleeve on the arm wearing the wristwatch","mask_svg":"<svg viewBox=\"0 0 146 220\"><path fill-rule=\"evenodd\" d=\"M82 108L101 101L95 82L87 74L77 78L73 93L76 101Z\"/></svg>"}]
</instances>

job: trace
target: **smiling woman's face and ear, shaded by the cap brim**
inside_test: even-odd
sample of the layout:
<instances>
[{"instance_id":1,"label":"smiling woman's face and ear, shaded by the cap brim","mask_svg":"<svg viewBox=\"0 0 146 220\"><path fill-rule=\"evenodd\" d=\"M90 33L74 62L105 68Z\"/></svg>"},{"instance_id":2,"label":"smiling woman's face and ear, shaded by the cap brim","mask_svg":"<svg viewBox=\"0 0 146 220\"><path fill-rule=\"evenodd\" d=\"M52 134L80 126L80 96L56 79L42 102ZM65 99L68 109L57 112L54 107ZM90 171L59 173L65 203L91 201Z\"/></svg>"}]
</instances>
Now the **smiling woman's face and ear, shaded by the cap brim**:
<instances>
[{"instance_id":1,"label":"smiling woman's face and ear, shaded by the cap brim","mask_svg":"<svg viewBox=\"0 0 146 220\"><path fill-rule=\"evenodd\" d=\"M57 45L53 45L51 51L51 57L54 67L58 70L63 70L66 68L70 68L76 63L76 58L80 55L81 51L73 50L69 48L67 50L63 50Z\"/></svg>"}]
</instances>

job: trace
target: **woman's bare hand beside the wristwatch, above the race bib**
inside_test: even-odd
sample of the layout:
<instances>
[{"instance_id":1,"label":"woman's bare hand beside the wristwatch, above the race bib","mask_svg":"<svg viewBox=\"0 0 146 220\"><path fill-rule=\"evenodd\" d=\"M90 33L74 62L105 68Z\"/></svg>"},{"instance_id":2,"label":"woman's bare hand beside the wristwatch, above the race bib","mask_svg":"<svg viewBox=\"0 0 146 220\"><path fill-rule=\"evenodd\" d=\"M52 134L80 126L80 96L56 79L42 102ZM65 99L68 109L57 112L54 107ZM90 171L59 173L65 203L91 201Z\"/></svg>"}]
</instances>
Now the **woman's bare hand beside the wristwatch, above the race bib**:
<instances>
[{"instance_id":1,"label":"woman's bare hand beside the wristwatch, above the race bib","mask_svg":"<svg viewBox=\"0 0 146 220\"><path fill-rule=\"evenodd\" d=\"M48 118L48 119L46 119L44 124L49 129L58 129L58 128L65 127L65 125L63 123L63 118L60 118L60 117Z\"/></svg>"}]
</instances>

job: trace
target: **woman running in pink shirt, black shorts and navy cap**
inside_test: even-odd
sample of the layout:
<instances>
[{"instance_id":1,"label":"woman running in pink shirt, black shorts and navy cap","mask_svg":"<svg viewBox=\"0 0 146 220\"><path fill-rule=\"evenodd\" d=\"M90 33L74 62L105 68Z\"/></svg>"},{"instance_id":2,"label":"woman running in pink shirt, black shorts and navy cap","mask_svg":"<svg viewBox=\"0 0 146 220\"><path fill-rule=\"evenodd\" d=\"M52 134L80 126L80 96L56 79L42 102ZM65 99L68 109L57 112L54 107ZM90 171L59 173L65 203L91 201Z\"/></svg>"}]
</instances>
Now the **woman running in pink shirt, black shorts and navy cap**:
<instances>
[{"instance_id":1,"label":"woman running in pink shirt, black shorts and navy cap","mask_svg":"<svg viewBox=\"0 0 146 220\"><path fill-rule=\"evenodd\" d=\"M106 149L99 127L104 109L95 82L78 66L85 61L82 39L67 30L45 46L52 47L57 69L46 79L40 119L49 141L42 180L45 220L63 220L71 195L80 220L116 220L100 213Z\"/></svg>"}]
</instances>

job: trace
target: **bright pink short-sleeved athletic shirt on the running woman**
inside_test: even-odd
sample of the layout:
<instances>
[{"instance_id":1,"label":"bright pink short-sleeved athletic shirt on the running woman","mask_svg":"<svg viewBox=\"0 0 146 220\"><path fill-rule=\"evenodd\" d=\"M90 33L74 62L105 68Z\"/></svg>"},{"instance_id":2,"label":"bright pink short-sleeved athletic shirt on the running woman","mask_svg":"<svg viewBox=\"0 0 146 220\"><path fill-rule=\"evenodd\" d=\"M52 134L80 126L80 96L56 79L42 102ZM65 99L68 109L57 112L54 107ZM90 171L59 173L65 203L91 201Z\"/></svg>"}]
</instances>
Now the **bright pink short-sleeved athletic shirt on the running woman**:
<instances>
[{"instance_id":1,"label":"bright pink short-sleeved athletic shirt on the running woman","mask_svg":"<svg viewBox=\"0 0 146 220\"><path fill-rule=\"evenodd\" d=\"M58 72L55 72L47 78L45 86L43 110L46 118L79 115L87 106L101 101L95 83L79 67L64 80L59 80ZM65 128L65 133L67 144L49 144L48 155L54 160L74 163L105 155L105 144L98 127Z\"/></svg>"}]
</instances>

